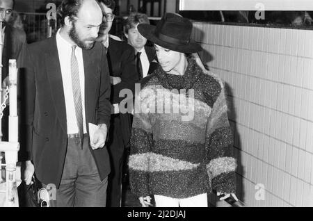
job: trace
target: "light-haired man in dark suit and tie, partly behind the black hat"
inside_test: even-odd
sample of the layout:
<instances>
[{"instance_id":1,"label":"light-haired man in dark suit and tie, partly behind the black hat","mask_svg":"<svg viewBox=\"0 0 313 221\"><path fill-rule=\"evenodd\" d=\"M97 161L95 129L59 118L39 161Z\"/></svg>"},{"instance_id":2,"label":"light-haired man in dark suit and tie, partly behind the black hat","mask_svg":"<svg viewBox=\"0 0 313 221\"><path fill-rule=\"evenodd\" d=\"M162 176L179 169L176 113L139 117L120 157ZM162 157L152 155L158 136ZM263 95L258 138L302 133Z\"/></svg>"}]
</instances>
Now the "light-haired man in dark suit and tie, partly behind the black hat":
<instances>
[{"instance_id":1,"label":"light-haired man in dark suit and tie, partly behind the black hat","mask_svg":"<svg viewBox=\"0 0 313 221\"><path fill-rule=\"evenodd\" d=\"M124 33L127 42L134 47L136 54L136 67L139 79L145 78L157 68L157 54L154 47L147 45L147 39L138 32L138 24L150 24L147 15L131 13L125 20Z\"/></svg>"}]
</instances>

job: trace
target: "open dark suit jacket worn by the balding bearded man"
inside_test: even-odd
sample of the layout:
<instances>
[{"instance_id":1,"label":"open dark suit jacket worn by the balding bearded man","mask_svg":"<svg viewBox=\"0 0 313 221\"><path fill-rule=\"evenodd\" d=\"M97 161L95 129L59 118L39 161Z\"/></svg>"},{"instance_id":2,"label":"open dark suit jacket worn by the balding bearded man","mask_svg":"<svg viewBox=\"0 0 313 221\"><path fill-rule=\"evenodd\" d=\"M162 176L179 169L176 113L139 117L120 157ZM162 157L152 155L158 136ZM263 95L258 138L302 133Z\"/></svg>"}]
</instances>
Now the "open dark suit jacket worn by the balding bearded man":
<instances>
[{"instance_id":1,"label":"open dark suit jacket worn by the balding bearded man","mask_svg":"<svg viewBox=\"0 0 313 221\"><path fill-rule=\"evenodd\" d=\"M67 149L67 120L56 36L26 45L18 65L25 85L25 146L31 152L38 179L58 188ZM102 44L83 50L83 65L87 130L88 123L106 124L109 128L110 80ZM91 152L103 180L111 171L107 149Z\"/></svg>"}]
</instances>

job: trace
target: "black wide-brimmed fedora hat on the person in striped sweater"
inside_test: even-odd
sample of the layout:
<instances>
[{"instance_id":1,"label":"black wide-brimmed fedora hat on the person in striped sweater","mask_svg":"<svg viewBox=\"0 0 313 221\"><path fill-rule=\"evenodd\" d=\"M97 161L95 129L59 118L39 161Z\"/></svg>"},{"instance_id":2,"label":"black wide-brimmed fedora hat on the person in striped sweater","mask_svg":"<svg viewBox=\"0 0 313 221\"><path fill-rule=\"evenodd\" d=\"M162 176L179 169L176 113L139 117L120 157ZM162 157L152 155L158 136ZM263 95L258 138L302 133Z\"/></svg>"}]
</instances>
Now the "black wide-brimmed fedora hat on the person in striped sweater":
<instances>
[{"instance_id":1,"label":"black wide-brimmed fedora hat on the person in striped sweater","mask_svg":"<svg viewBox=\"0 0 313 221\"><path fill-rule=\"evenodd\" d=\"M166 13L157 26L138 24L138 31L154 44L182 53L201 51L200 44L192 40L193 24L186 18L173 13Z\"/></svg>"}]
</instances>

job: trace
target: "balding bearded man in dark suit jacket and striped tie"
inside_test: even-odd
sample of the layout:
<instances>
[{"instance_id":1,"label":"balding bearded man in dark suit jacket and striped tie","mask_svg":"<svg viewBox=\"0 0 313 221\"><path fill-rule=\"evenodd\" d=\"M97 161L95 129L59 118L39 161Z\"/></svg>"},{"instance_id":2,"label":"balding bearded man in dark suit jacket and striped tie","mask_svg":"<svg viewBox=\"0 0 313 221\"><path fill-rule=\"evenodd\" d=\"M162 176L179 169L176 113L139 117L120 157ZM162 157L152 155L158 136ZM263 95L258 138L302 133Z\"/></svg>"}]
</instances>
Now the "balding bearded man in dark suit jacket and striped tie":
<instances>
[{"instance_id":1,"label":"balding bearded man in dark suit jacket and striped tie","mask_svg":"<svg viewBox=\"0 0 313 221\"><path fill-rule=\"evenodd\" d=\"M112 106L106 51L95 43L102 11L95 0L64 0L58 16L56 35L27 45L19 57L29 151L24 180L31 183L35 171L44 187L56 186L50 206L105 206ZM98 125L95 133L88 123Z\"/></svg>"}]
</instances>

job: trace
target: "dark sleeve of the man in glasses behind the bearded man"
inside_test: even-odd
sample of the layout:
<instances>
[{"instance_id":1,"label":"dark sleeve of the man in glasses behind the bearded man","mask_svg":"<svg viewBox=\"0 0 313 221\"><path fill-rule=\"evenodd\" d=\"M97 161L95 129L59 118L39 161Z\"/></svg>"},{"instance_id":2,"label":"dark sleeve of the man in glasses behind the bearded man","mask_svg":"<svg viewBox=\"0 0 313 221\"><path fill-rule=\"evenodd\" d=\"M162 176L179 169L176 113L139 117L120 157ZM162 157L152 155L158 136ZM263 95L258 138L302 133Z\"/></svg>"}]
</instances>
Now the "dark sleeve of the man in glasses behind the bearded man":
<instances>
[{"instance_id":1,"label":"dark sleeve of the man in glasses behind the bearded man","mask_svg":"<svg viewBox=\"0 0 313 221\"><path fill-rule=\"evenodd\" d=\"M114 85L114 91L120 93L123 89L130 89L133 94L135 91L135 83L138 81L138 74L135 64L135 52L131 47L126 47L121 59L121 82ZM118 103L124 99L123 97L118 98Z\"/></svg>"}]
</instances>

